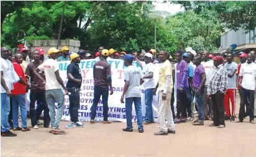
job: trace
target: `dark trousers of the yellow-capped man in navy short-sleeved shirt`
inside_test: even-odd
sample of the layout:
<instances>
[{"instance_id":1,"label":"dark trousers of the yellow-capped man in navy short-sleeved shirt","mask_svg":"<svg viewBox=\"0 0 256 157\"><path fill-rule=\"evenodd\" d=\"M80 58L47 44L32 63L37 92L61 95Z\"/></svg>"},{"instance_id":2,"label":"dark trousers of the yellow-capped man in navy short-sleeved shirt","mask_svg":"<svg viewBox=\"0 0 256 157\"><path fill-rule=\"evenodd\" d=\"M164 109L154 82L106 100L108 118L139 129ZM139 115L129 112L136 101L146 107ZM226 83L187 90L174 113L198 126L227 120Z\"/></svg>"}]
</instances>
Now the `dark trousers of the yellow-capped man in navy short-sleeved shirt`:
<instances>
[{"instance_id":1,"label":"dark trousers of the yellow-capped man in navy short-sleeved shirt","mask_svg":"<svg viewBox=\"0 0 256 157\"><path fill-rule=\"evenodd\" d=\"M68 96L70 97L70 119L71 122L79 122L78 120L78 109L80 107L80 90L77 87L67 88L68 92L71 94Z\"/></svg>"}]
</instances>

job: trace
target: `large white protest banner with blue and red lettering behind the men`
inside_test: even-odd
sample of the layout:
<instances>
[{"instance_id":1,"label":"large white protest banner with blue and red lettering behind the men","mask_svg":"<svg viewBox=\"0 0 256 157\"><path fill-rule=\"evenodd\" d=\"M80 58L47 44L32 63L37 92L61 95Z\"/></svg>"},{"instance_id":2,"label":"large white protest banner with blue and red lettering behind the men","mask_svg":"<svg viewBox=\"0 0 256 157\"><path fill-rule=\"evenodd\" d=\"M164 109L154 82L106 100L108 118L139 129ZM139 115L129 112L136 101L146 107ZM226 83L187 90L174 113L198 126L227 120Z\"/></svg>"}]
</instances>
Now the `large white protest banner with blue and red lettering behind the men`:
<instances>
[{"instance_id":1,"label":"large white protest banner with blue and red lettering behind the men","mask_svg":"<svg viewBox=\"0 0 256 157\"><path fill-rule=\"evenodd\" d=\"M108 98L108 107L109 107L109 120L117 120L121 122L126 122L126 107L125 104L120 102L122 92L124 90L124 70L126 67L124 66L124 61L122 60L107 60L111 65L111 73L112 73L112 87L114 94L109 95ZM96 63L96 60L81 60L80 69L81 75L83 78L81 91L80 91L80 109L78 110L78 119L81 121L90 120L91 117L91 105L93 105L93 92L94 92L94 84L93 84L93 65ZM66 77L66 68L70 64L70 61L61 61L59 62L60 68L60 76L66 86L68 78ZM160 64L155 64L155 72L154 79L155 83L158 81L158 68ZM139 67L137 61L134 61L134 66ZM142 115L145 117L145 97L143 84L141 86L142 94L141 94L141 102L142 102ZM158 95L153 96L153 117L157 120L157 106L158 106ZM63 112L62 120L70 120L69 114L69 97L65 96L65 109ZM103 104L102 99L100 99L98 107L96 120L103 120ZM137 121L137 117L135 114L134 105L132 108L132 120Z\"/></svg>"}]
</instances>

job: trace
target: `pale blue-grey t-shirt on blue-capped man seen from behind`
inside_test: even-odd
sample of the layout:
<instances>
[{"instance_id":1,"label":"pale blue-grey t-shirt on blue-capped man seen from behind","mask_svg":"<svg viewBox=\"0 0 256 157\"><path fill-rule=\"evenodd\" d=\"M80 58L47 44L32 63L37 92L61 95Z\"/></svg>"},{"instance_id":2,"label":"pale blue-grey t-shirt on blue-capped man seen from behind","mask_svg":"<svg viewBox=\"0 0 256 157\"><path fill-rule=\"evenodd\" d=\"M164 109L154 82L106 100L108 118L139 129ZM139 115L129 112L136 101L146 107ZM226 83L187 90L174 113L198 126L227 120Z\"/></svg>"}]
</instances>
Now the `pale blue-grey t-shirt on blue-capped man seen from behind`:
<instances>
[{"instance_id":1,"label":"pale blue-grey t-shirt on blue-capped man seen from behind","mask_svg":"<svg viewBox=\"0 0 256 157\"><path fill-rule=\"evenodd\" d=\"M126 98L141 97L140 79L142 72L140 68L130 65L124 70L124 81L129 81L129 87L126 92Z\"/></svg>"}]
</instances>

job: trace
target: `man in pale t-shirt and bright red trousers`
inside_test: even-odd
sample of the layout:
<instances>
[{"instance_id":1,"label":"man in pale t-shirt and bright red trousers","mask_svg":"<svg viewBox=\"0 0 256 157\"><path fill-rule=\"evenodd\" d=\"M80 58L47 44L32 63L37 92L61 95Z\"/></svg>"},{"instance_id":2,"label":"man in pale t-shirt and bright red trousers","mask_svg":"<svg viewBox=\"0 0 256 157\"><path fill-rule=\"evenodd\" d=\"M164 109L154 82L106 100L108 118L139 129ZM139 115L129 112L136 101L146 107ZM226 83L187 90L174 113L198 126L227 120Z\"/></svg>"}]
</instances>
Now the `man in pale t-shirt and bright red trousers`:
<instances>
[{"instance_id":1,"label":"man in pale t-shirt and bright red trousers","mask_svg":"<svg viewBox=\"0 0 256 157\"><path fill-rule=\"evenodd\" d=\"M235 121L235 96L236 96L236 71L238 68L237 63L233 61L233 53L227 53L227 63L224 68L227 70L227 91L224 96L224 105L226 110L226 120ZM232 110L230 112L229 99L231 100Z\"/></svg>"}]
</instances>

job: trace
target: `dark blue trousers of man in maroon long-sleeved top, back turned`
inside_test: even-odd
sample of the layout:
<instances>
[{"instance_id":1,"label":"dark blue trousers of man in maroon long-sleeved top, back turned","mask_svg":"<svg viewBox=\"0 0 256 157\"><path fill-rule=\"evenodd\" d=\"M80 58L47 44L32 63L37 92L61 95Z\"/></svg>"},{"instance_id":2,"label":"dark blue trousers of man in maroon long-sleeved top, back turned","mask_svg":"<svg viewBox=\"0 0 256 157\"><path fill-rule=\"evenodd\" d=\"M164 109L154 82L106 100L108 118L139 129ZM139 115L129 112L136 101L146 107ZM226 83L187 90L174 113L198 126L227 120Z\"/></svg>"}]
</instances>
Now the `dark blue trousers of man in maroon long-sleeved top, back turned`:
<instances>
[{"instance_id":1,"label":"dark blue trousers of man in maroon long-sleeved top, back turned","mask_svg":"<svg viewBox=\"0 0 256 157\"><path fill-rule=\"evenodd\" d=\"M109 99L109 89L99 86L94 86L94 98L93 98L93 105L91 106L91 119L95 119L96 117L96 107L98 106L99 99L103 99L103 117L104 121L107 121L108 117L108 105L107 100Z\"/></svg>"}]
</instances>

